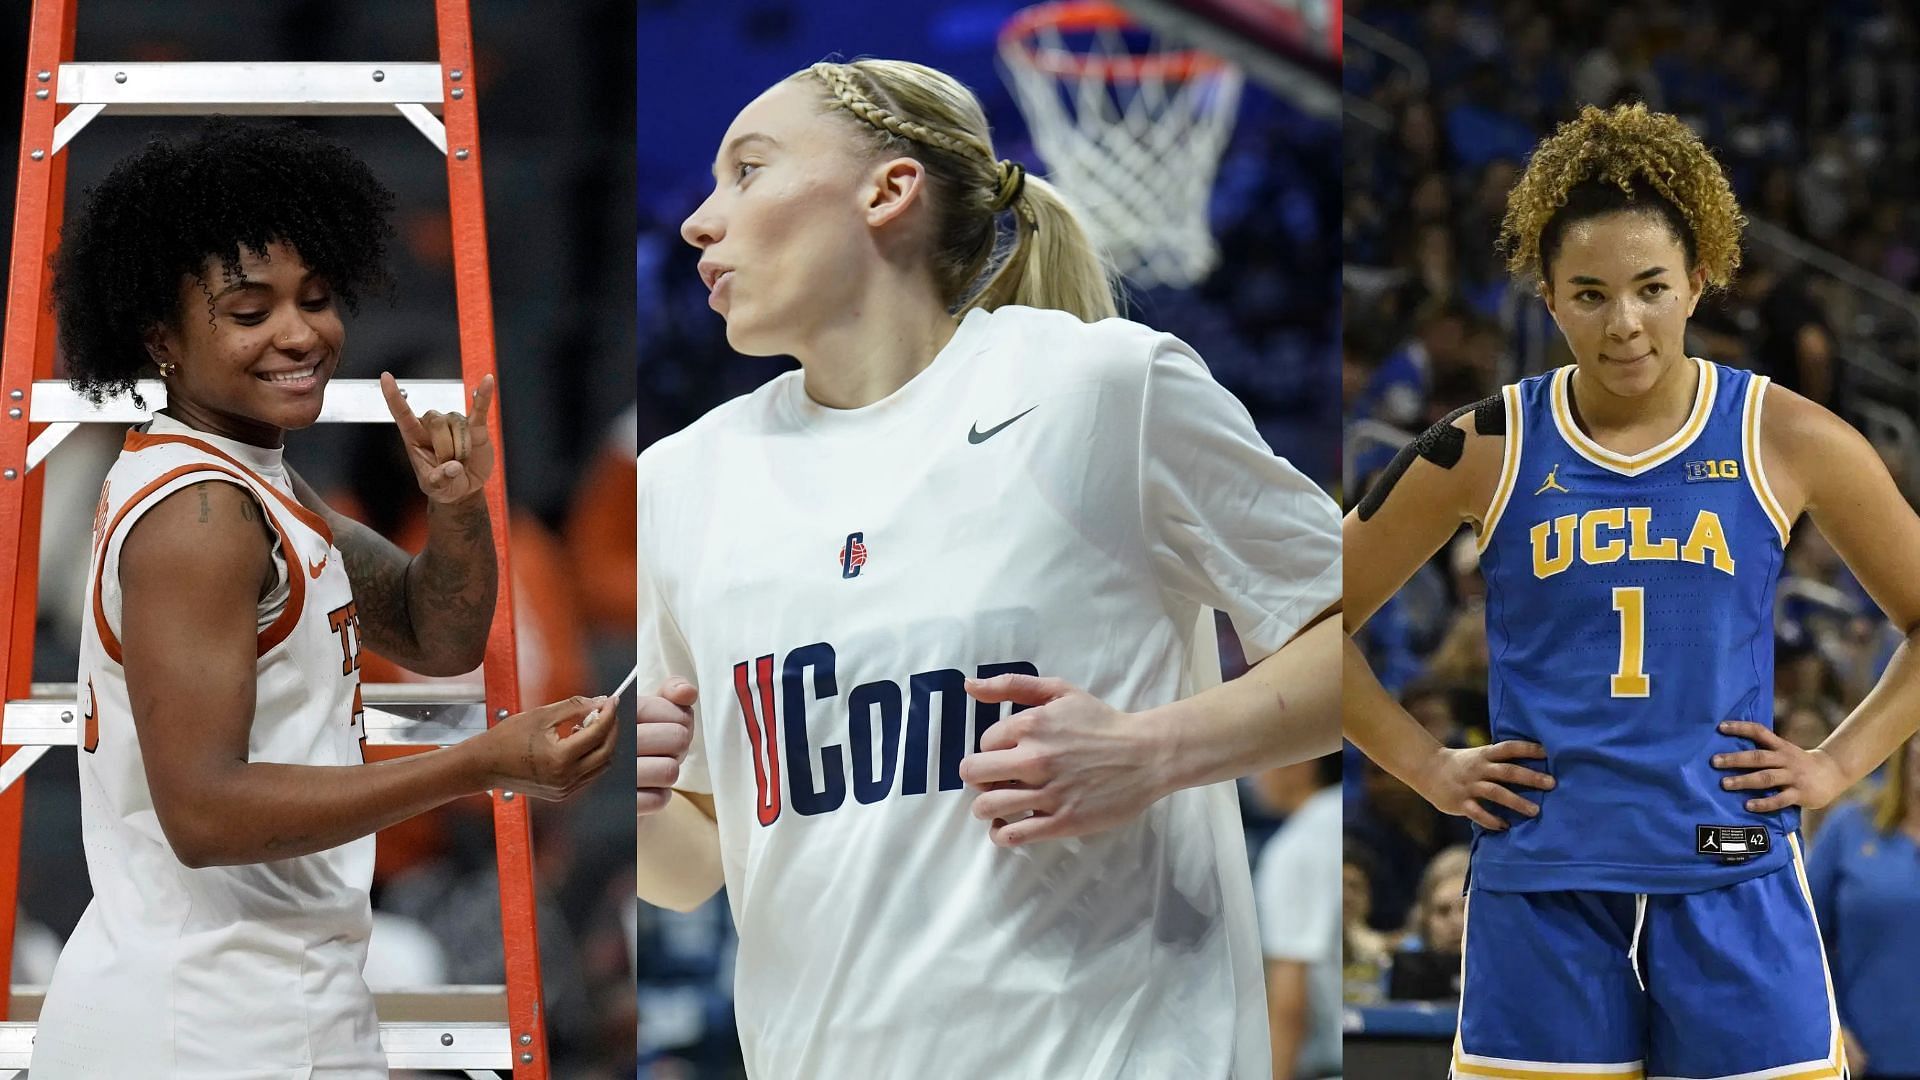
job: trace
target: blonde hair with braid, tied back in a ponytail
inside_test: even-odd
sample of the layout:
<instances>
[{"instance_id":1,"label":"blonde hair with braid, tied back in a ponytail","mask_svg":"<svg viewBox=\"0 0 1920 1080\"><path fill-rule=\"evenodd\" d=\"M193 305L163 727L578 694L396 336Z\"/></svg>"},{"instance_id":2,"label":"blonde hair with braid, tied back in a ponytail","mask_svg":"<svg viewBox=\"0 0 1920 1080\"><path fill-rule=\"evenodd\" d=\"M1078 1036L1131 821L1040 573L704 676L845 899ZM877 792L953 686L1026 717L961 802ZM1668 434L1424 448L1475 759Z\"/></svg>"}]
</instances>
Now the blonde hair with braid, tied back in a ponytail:
<instances>
[{"instance_id":1,"label":"blonde hair with braid, tied back in a ponytail","mask_svg":"<svg viewBox=\"0 0 1920 1080\"><path fill-rule=\"evenodd\" d=\"M948 309L1023 304L1089 323L1117 315L1112 267L1079 215L1046 181L995 160L987 113L956 79L904 60L814 63L791 79L818 79L828 108L856 119L876 154L925 165L933 271ZM1004 242L1000 213L1012 217Z\"/></svg>"}]
</instances>

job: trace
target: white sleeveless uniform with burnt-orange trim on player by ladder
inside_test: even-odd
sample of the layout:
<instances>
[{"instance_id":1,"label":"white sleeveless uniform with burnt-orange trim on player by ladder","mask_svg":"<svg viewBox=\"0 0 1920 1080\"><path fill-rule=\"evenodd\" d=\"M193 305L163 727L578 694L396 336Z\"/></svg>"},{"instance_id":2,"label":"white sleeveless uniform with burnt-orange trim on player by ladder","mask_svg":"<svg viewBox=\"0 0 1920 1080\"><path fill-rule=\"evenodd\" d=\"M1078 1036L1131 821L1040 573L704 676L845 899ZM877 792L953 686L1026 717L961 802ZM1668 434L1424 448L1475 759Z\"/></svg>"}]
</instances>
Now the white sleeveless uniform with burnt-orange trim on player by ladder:
<instances>
[{"instance_id":1,"label":"white sleeveless uniform with burnt-orange trim on player by ladder","mask_svg":"<svg viewBox=\"0 0 1920 1080\"><path fill-rule=\"evenodd\" d=\"M202 480L250 490L275 532L248 759L361 763L353 590L326 523L294 500L280 452L167 415L131 430L100 492L81 642L81 828L94 899L54 969L33 1078L384 1080L361 978L372 838L192 871L154 813L121 667L119 553L142 513Z\"/></svg>"}]
</instances>

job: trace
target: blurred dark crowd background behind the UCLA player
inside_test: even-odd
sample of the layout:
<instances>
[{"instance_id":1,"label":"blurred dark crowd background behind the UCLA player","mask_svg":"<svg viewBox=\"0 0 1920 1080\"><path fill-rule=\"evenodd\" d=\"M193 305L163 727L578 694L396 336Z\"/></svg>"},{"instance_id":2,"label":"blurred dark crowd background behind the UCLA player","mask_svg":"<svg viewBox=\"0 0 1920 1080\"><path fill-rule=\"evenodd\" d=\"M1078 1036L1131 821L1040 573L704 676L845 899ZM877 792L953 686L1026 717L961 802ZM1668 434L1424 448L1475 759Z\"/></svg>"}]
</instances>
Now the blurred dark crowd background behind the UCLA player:
<instances>
[{"instance_id":1,"label":"blurred dark crowd background behind the UCLA player","mask_svg":"<svg viewBox=\"0 0 1920 1080\"><path fill-rule=\"evenodd\" d=\"M1692 125L1753 219L1740 281L1701 304L1690 350L1826 404L1880 448L1914 500L1916 46L1916 8L1905 2L1352 2L1342 150L1348 505L1402 444L1453 407L1571 361L1540 300L1509 282L1494 238L1534 142L1582 104L1622 100ZM1488 740L1480 596L1463 534L1380 609L1361 642L1388 690L1453 746ZM1899 644L1832 548L1811 527L1795 530L1776 611L1782 734L1820 742ZM1459 990L1467 822L1438 815L1352 748L1348 763L1357 778L1346 790L1348 1076L1438 1078ZM1889 813L1920 836L1907 801ZM1878 851L1872 813L1830 809L1805 824L1841 1020L1855 1034L1862 1020L1920 1020L1912 994L1884 995L1893 1017L1849 1007L1849 986L1862 984L1836 938L1901 932L1857 915L1843 869ZM1824 826L1841 838L1824 842ZM1920 869L1897 888L1908 905L1920 901ZM1903 932L1908 940L1885 947L1910 949L1899 961L1910 972L1920 944ZM1920 1072L1920 1047L1912 1034L1905 1040L1864 1045L1866 1068L1878 1055L1882 1068ZM1851 1057L1862 1076L1862 1055Z\"/></svg>"}]
</instances>

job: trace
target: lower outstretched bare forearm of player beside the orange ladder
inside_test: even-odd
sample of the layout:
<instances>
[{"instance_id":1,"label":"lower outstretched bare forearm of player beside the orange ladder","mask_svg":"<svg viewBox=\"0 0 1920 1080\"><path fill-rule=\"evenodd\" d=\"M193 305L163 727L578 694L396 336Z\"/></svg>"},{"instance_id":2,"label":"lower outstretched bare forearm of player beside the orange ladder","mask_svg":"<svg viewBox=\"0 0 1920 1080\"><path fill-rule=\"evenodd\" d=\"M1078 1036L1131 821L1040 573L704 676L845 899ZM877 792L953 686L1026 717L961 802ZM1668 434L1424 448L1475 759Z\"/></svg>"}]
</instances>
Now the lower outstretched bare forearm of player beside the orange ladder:
<instances>
[{"instance_id":1,"label":"lower outstretched bare forearm of player beside the orange ladder","mask_svg":"<svg viewBox=\"0 0 1920 1080\"><path fill-rule=\"evenodd\" d=\"M367 765L232 761L156 803L180 863L232 867L338 847L484 792L488 778L478 748L457 744Z\"/></svg>"}]
</instances>

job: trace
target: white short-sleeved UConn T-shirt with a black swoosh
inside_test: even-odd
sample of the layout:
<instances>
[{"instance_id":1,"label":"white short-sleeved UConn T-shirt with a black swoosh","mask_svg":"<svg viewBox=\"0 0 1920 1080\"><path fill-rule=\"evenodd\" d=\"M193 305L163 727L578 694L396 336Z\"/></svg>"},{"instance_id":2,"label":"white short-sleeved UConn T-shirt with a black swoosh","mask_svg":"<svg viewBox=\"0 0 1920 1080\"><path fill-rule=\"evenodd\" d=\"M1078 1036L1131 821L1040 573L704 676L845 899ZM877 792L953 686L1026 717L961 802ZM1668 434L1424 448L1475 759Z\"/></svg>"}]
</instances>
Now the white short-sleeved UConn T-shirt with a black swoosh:
<instances>
[{"instance_id":1,"label":"white short-sleeved UConn T-shirt with a black swoosh","mask_svg":"<svg viewBox=\"0 0 1920 1080\"><path fill-rule=\"evenodd\" d=\"M1263 1080L1233 784L995 847L960 759L1012 707L962 680L1175 701L1208 609L1260 659L1340 596L1338 525L1185 344L1029 307L874 405L787 373L641 454L641 684L699 686L749 1074Z\"/></svg>"}]
</instances>

